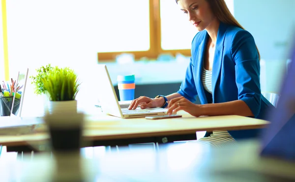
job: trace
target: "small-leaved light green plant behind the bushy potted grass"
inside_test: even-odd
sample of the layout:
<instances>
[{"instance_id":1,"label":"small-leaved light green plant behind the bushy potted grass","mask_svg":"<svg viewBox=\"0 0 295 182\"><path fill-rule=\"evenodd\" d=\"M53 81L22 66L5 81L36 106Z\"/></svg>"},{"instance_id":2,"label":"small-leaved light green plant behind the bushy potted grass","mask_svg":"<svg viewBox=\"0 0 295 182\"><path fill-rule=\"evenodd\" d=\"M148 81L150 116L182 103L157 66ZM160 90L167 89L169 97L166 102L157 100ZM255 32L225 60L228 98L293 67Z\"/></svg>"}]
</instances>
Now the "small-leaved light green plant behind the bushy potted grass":
<instances>
[{"instance_id":1,"label":"small-leaved light green plant behind the bushy potted grass","mask_svg":"<svg viewBox=\"0 0 295 182\"><path fill-rule=\"evenodd\" d=\"M51 66L51 64L47 64L45 67L42 66L40 68L37 68L37 75L36 76L30 76L29 78L32 79L32 84L34 85L34 92L36 94L45 93L46 89L44 88L44 82L43 80L48 80L48 75L53 70L54 67Z\"/></svg>"}]
</instances>

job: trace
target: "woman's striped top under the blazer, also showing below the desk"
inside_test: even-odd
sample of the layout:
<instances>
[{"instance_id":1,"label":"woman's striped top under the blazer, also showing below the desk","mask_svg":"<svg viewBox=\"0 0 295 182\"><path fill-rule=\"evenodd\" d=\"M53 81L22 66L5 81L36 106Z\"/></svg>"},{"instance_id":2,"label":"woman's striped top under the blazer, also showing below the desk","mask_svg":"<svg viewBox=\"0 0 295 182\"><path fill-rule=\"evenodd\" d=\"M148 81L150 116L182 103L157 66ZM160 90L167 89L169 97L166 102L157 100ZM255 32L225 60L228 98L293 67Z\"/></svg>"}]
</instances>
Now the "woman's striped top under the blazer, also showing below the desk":
<instances>
[{"instance_id":1,"label":"woman's striped top under the blazer, also showing below the desk","mask_svg":"<svg viewBox=\"0 0 295 182\"><path fill-rule=\"evenodd\" d=\"M201 80L202 80L202 84L203 84L204 89L212 94L212 71L205 69L204 66L202 69ZM230 138L232 138L232 136L230 135L230 133L228 131L213 131L213 133L210 135L210 137L230 137ZM205 138L207 138L207 137L205 137ZM206 140L216 141L217 139L207 138ZM223 140L223 139L219 139L219 138L217 141L220 141L220 140L231 141L229 139ZM220 142L222 142L222 141L220 141Z\"/></svg>"}]
</instances>

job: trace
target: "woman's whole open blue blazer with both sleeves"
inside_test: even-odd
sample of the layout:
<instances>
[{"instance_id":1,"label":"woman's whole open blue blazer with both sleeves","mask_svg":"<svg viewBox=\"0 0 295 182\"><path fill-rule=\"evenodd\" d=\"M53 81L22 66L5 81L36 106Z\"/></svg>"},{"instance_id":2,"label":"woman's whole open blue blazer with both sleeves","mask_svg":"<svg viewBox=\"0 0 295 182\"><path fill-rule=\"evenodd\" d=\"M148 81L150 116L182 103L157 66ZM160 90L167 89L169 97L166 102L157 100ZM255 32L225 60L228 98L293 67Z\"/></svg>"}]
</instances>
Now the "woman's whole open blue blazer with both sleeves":
<instances>
[{"instance_id":1,"label":"woman's whole open blue blazer with both sleeves","mask_svg":"<svg viewBox=\"0 0 295 182\"><path fill-rule=\"evenodd\" d=\"M199 96L201 104L243 100L255 118L264 119L265 112L273 106L261 94L260 62L253 36L246 30L220 23L212 67L212 97L201 81L208 36L203 30L194 37L191 61L178 93L191 102ZM259 130L229 133L239 139L256 137Z\"/></svg>"}]
</instances>

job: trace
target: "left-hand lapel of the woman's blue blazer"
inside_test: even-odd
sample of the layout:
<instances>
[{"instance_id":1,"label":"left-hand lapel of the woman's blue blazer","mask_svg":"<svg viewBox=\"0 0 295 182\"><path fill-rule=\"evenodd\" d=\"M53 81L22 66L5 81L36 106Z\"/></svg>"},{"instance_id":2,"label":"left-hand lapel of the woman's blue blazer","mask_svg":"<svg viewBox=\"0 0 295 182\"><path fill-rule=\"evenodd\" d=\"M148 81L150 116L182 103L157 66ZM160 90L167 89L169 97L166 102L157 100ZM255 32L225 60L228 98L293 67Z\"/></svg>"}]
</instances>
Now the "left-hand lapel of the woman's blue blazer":
<instances>
[{"instance_id":1,"label":"left-hand lapel of the woman's blue blazer","mask_svg":"<svg viewBox=\"0 0 295 182\"><path fill-rule=\"evenodd\" d=\"M206 32L203 41L201 42L201 44L199 45L198 48L198 55L197 55L197 60L199 61L198 65L195 65L197 68L197 81L195 83L196 84L196 88L199 94L199 98L202 104L207 104L207 98L206 98L206 94L204 91L204 87L202 84L202 68L203 68L203 62L204 62L204 56L205 56L205 49L206 49L206 44L207 44L207 39L208 39L208 33Z\"/></svg>"}]
</instances>

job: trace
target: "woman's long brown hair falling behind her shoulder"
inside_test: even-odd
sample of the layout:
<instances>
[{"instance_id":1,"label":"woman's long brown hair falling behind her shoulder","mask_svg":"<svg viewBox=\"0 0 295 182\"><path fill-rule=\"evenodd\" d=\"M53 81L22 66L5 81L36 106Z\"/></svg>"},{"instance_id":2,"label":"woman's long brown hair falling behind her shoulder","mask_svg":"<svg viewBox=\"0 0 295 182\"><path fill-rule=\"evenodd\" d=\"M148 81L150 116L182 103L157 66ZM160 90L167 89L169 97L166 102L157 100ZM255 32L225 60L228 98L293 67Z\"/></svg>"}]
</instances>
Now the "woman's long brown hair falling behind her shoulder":
<instances>
[{"instance_id":1,"label":"woman's long brown hair falling behind her shoulder","mask_svg":"<svg viewBox=\"0 0 295 182\"><path fill-rule=\"evenodd\" d=\"M178 0L176 0L177 3ZM245 30L237 21L236 18L232 15L229 8L227 7L224 0L207 0L209 6L211 7L212 12L217 17L220 22L223 22L228 25L233 25ZM256 46L258 57L260 60L260 53Z\"/></svg>"}]
</instances>

